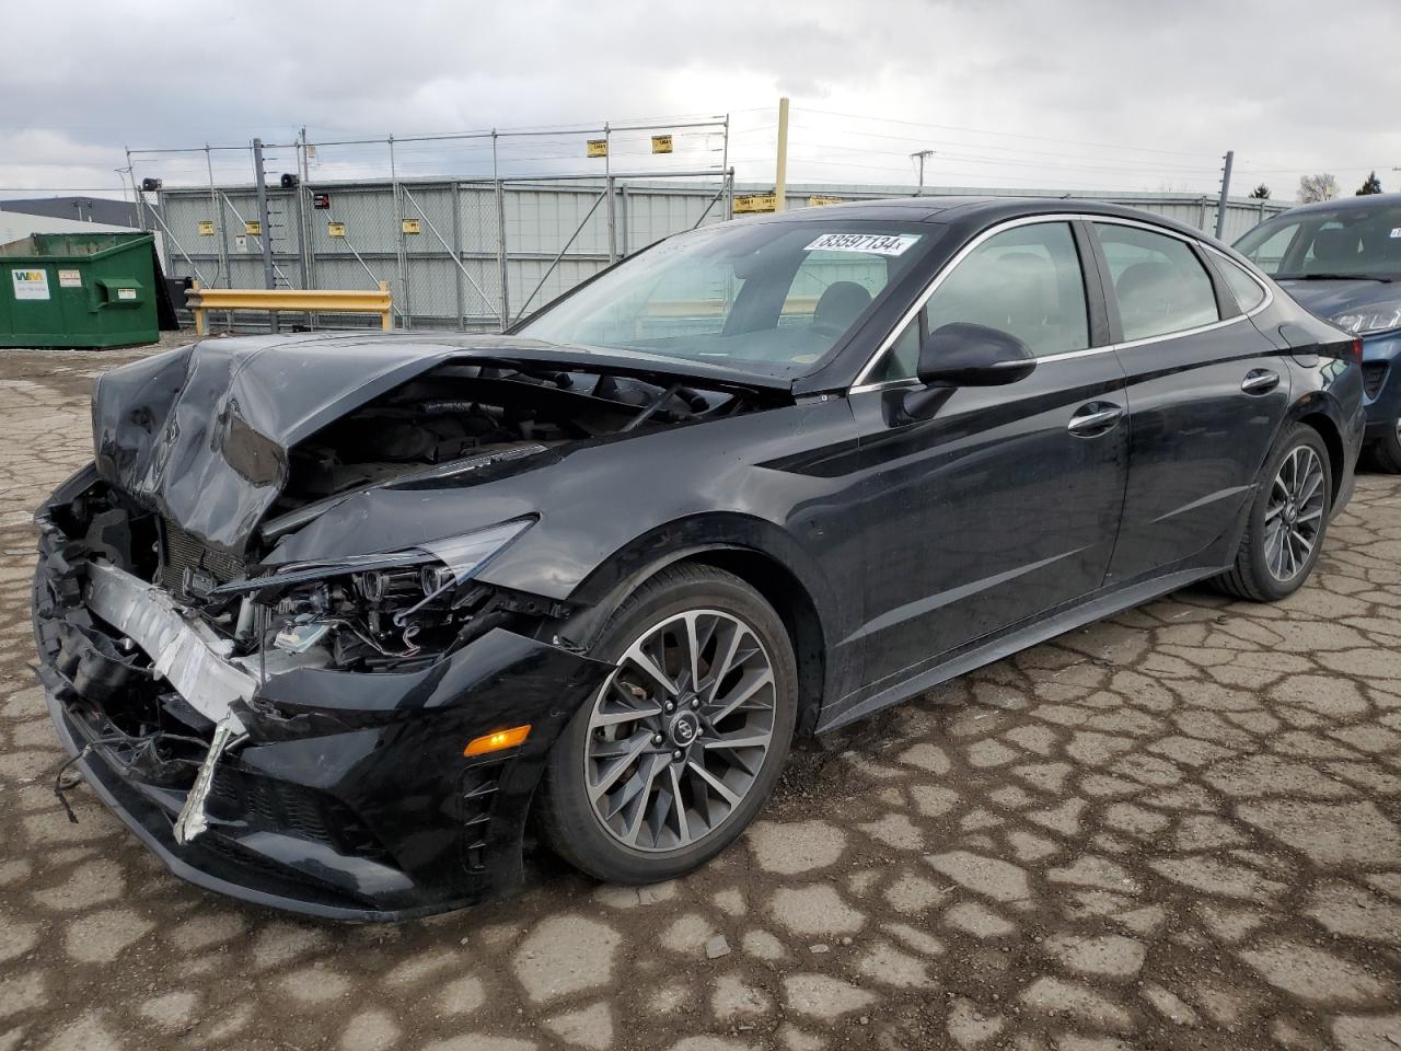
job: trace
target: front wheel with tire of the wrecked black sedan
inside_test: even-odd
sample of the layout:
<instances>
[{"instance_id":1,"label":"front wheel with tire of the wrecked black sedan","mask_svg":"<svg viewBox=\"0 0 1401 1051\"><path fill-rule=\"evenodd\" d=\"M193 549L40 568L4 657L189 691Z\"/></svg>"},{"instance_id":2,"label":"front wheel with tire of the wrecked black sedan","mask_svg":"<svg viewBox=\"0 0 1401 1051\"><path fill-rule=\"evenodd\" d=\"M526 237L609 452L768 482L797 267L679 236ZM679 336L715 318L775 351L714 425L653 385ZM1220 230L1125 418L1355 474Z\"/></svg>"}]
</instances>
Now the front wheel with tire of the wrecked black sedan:
<instances>
[{"instance_id":1,"label":"front wheel with tire of the wrecked black sedan","mask_svg":"<svg viewBox=\"0 0 1401 1051\"><path fill-rule=\"evenodd\" d=\"M551 751L545 838L612 883L691 872L778 783L797 723L787 631L738 577L668 566L623 601L590 656L618 670Z\"/></svg>"}]
</instances>

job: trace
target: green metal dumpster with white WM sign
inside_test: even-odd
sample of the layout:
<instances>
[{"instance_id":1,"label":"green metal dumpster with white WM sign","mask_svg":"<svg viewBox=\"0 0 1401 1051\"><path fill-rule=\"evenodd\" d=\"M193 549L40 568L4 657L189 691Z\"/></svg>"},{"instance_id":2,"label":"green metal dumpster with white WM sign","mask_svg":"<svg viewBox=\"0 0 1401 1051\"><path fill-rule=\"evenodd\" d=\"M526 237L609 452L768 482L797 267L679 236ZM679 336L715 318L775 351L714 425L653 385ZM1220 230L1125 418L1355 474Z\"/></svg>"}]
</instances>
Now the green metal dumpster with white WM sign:
<instances>
[{"instance_id":1,"label":"green metal dumpster with white WM sign","mask_svg":"<svg viewBox=\"0 0 1401 1051\"><path fill-rule=\"evenodd\" d=\"M158 338L153 234L31 234L0 245L0 346Z\"/></svg>"}]
</instances>

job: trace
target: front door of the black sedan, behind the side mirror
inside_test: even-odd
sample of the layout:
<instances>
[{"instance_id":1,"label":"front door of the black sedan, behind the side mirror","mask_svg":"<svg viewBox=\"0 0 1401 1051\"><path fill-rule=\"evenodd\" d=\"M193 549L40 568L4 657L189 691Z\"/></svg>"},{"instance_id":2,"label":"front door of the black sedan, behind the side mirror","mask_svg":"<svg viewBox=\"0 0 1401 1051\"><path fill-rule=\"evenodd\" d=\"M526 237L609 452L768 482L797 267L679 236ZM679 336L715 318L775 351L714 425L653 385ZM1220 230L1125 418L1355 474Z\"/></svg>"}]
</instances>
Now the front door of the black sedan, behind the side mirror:
<instances>
[{"instance_id":1,"label":"front door of the black sedan, behind the side mirror","mask_svg":"<svg viewBox=\"0 0 1401 1051\"><path fill-rule=\"evenodd\" d=\"M944 268L852 390L864 493L869 692L1094 591L1128 462L1124 376L1087 234L1059 219L986 231ZM1012 332L1035 370L962 387L913 419L915 363L955 321Z\"/></svg>"}]
</instances>

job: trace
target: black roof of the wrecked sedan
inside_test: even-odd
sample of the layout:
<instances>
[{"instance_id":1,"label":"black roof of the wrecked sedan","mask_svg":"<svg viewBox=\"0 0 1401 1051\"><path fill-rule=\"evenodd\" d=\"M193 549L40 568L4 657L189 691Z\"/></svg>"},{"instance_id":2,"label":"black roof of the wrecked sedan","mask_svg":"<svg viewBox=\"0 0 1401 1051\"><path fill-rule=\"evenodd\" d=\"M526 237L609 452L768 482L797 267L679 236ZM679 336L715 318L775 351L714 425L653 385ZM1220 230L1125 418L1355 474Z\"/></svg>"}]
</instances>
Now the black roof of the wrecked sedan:
<instances>
[{"instance_id":1,"label":"black roof of the wrecked sedan","mask_svg":"<svg viewBox=\"0 0 1401 1051\"><path fill-rule=\"evenodd\" d=\"M1397 195L1401 196L1401 195ZM750 216L741 221L750 223L799 223L821 221L841 223L849 220L901 220L906 223L948 223L953 220L965 221L978 219L988 224L1000 223L1007 219L1035 214L1090 214L1111 216L1118 219L1133 219L1140 223L1152 223L1189 237L1215 244L1215 238L1194 226L1178 223L1174 219L1145 212L1125 205L1111 205L1105 200L1091 200L1089 198L989 198L989 196L927 196L927 198L884 198L877 200L849 200L841 205L824 205L821 207L800 207L790 212L778 212L759 216Z\"/></svg>"}]
</instances>

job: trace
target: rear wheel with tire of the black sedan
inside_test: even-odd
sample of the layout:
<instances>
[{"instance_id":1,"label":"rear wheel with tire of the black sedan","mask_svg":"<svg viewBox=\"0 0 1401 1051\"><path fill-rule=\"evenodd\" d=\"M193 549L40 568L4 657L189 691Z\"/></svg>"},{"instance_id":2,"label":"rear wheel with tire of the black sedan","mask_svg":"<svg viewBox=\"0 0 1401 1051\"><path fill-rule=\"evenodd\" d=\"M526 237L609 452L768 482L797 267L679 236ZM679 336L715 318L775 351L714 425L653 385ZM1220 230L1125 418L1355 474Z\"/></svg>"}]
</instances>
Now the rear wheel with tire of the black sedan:
<instances>
[{"instance_id":1,"label":"rear wheel with tire of the black sedan","mask_svg":"<svg viewBox=\"0 0 1401 1051\"><path fill-rule=\"evenodd\" d=\"M1216 586L1236 598L1275 603L1313 572L1332 511L1332 467L1318 432L1295 423L1275 444L1236 552Z\"/></svg>"}]
</instances>

